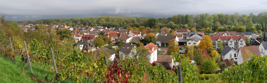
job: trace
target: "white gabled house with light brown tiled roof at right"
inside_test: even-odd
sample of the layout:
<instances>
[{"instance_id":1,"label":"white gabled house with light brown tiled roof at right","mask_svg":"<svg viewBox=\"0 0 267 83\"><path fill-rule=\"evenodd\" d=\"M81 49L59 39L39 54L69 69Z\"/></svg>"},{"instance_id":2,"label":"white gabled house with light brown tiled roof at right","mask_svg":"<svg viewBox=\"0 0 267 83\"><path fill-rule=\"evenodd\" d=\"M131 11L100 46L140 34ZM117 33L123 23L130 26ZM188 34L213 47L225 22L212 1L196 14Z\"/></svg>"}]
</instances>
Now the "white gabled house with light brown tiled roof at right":
<instances>
[{"instance_id":1,"label":"white gabled house with light brown tiled roof at right","mask_svg":"<svg viewBox=\"0 0 267 83\"><path fill-rule=\"evenodd\" d=\"M256 56L259 56L261 57L260 55L260 50L259 50L259 47L258 46L247 46L247 47L240 47L239 48L239 51L238 51L238 54L237 54L237 64L242 64L246 59L250 59L250 58L244 58L242 57L242 55L245 54L246 52L246 49L248 51L250 51L252 53L252 55L256 55Z\"/></svg>"}]
</instances>

